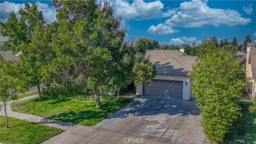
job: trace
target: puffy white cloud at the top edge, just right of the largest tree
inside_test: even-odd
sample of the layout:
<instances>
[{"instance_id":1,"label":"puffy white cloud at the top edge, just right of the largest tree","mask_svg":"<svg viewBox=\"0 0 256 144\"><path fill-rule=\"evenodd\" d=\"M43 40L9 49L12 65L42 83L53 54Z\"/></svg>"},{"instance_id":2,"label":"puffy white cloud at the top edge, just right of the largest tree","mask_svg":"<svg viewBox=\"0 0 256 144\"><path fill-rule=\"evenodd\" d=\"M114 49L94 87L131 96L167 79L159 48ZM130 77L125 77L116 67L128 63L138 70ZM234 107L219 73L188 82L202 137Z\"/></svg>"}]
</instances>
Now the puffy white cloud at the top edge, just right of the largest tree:
<instances>
[{"instance_id":1,"label":"puffy white cloud at the top edge, just right of the largest tree","mask_svg":"<svg viewBox=\"0 0 256 144\"><path fill-rule=\"evenodd\" d=\"M121 16L122 19L150 19L155 18L162 13L164 4L160 1L155 2L143 2L142 0L133 1L129 3L127 1L115 2L115 15Z\"/></svg>"}]
</instances>

